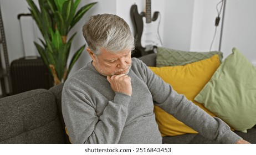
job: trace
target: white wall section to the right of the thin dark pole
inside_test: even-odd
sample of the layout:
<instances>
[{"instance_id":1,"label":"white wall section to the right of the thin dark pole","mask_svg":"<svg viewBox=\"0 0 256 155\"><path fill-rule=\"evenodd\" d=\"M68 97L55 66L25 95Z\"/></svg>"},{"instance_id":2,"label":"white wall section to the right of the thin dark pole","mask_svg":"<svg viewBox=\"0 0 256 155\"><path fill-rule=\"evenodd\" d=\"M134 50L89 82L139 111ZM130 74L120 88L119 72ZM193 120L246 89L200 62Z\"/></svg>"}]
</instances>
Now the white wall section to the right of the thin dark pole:
<instances>
[{"instance_id":1,"label":"white wall section to the right of the thin dark pole","mask_svg":"<svg viewBox=\"0 0 256 155\"><path fill-rule=\"evenodd\" d=\"M250 62L256 63L255 6L254 0L227 0L221 48L224 57L236 47Z\"/></svg>"}]
</instances>

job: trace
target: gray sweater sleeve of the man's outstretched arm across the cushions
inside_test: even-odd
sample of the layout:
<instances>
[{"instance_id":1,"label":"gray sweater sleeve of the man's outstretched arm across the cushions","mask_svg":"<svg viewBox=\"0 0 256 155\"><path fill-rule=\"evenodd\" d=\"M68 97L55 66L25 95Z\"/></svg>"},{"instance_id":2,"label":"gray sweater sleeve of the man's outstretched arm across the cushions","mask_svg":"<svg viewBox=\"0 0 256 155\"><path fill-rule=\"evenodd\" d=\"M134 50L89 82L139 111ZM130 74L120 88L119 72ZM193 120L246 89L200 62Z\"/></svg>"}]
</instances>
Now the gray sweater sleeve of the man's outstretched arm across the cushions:
<instances>
[{"instance_id":1,"label":"gray sweater sleeve of the man's outstretched arm across the cushions","mask_svg":"<svg viewBox=\"0 0 256 155\"><path fill-rule=\"evenodd\" d=\"M208 115L187 98L178 94L172 86L153 73L146 65L142 65L146 74L146 82L155 105L170 113L202 136L220 143L235 143L242 139L231 131L229 126L217 117Z\"/></svg>"}]
</instances>

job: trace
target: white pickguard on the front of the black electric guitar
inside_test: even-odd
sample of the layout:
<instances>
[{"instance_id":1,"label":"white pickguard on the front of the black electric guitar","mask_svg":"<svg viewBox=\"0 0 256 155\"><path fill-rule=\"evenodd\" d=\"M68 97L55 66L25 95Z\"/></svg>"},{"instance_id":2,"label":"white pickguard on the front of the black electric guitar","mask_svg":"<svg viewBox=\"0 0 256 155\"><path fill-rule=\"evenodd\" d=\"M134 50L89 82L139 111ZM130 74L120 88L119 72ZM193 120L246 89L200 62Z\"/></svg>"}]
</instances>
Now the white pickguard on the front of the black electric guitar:
<instances>
[{"instance_id":1,"label":"white pickguard on the front of the black electric guitar","mask_svg":"<svg viewBox=\"0 0 256 155\"><path fill-rule=\"evenodd\" d=\"M160 13L155 12L152 18L152 22L146 23L146 17L142 17L143 20L143 32L141 35L141 46L146 48L147 46L161 46L162 42L158 33L160 25Z\"/></svg>"}]
</instances>

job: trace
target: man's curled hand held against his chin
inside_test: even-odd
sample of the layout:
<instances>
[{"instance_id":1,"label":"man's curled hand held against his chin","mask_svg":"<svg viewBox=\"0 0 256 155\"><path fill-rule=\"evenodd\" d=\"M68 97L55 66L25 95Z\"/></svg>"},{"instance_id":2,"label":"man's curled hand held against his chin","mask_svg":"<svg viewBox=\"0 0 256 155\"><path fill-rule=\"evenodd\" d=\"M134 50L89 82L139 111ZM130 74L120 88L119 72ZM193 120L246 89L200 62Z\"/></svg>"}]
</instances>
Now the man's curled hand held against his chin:
<instances>
[{"instance_id":1,"label":"man's curled hand held against his chin","mask_svg":"<svg viewBox=\"0 0 256 155\"><path fill-rule=\"evenodd\" d=\"M110 82L112 90L115 92L122 92L126 95L131 96L131 77L125 74L107 76L107 81Z\"/></svg>"}]
</instances>

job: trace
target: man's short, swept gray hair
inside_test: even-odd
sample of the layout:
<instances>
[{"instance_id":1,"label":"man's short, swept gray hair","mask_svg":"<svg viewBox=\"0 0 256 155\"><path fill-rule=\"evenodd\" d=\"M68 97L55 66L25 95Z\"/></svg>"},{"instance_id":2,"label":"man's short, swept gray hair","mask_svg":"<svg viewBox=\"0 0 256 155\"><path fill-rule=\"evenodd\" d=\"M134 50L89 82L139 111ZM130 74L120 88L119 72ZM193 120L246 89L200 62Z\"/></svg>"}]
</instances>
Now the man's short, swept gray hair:
<instances>
[{"instance_id":1,"label":"man's short, swept gray hair","mask_svg":"<svg viewBox=\"0 0 256 155\"><path fill-rule=\"evenodd\" d=\"M91 16L83 26L83 35L88 47L99 55L100 49L112 53L121 50L134 50L134 36L124 19L114 14Z\"/></svg>"}]
</instances>

